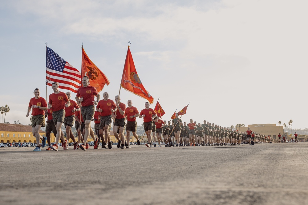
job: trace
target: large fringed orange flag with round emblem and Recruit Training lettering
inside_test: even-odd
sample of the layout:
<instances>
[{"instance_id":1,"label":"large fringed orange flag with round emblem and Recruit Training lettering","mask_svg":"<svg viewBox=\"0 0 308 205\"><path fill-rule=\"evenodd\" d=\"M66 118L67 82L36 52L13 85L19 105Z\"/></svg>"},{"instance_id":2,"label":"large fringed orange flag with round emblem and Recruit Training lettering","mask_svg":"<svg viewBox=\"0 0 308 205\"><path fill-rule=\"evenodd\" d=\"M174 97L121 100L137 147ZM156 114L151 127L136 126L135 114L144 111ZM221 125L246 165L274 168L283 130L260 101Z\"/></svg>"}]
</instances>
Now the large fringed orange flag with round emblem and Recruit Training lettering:
<instances>
[{"instance_id":1,"label":"large fringed orange flag with round emblem and Recruit Training lettering","mask_svg":"<svg viewBox=\"0 0 308 205\"><path fill-rule=\"evenodd\" d=\"M150 95L150 93L148 93L148 91L143 87L141 83L135 68L132 53L129 50L129 46L124 63L121 87L129 92L135 93L136 95L147 99L150 104L154 102L154 98Z\"/></svg>"}]
</instances>

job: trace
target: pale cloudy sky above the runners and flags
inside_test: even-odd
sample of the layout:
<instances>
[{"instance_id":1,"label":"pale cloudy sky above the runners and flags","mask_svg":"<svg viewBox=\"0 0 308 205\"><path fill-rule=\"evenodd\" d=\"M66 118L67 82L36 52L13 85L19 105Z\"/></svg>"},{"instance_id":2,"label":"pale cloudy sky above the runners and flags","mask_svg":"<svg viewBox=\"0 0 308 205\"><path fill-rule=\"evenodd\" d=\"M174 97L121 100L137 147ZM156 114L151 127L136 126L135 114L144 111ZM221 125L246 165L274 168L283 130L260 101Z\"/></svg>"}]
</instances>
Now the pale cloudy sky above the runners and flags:
<instances>
[{"instance_id":1,"label":"pale cloudy sky above the runners and flags","mask_svg":"<svg viewBox=\"0 0 308 205\"><path fill-rule=\"evenodd\" d=\"M128 41L144 87L170 120L223 127L306 128L307 1L2 1L0 106L6 122L30 124L30 98L46 92L46 44L81 71L81 45L118 95ZM66 92L66 90L61 90ZM101 94L102 94L101 93ZM72 94L75 98L75 93ZM139 111L143 98L124 89ZM4 115L3 115L4 118ZM4 122L4 119L3 119ZM143 122L137 119L138 125Z\"/></svg>"}]
</instances>

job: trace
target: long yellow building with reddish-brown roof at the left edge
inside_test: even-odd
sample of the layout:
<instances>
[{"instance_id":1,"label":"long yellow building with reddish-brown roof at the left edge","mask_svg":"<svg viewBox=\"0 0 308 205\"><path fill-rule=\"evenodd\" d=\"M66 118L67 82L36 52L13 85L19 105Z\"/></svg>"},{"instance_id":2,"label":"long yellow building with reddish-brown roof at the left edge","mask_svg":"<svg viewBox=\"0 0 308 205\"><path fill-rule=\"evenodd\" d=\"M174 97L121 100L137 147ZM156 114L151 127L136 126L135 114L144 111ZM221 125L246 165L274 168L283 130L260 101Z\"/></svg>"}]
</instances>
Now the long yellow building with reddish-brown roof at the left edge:
<instances>
[{"instance_id":1,"label":"long yellow building with reddish-brown roof at the left edge","mask_svg":"<svg viewBox=\"0 0 308 205\"><path fill-rule=\"evenodd\" d=\"M0 123L0 133L0 143L36 143L36 139L32 134L32 127L30 125ZM39 133L41 136L46 136L46 133L42 130L40 130ZM41 140L40 143L42 143Z\"/></svg>"}]
</instances>

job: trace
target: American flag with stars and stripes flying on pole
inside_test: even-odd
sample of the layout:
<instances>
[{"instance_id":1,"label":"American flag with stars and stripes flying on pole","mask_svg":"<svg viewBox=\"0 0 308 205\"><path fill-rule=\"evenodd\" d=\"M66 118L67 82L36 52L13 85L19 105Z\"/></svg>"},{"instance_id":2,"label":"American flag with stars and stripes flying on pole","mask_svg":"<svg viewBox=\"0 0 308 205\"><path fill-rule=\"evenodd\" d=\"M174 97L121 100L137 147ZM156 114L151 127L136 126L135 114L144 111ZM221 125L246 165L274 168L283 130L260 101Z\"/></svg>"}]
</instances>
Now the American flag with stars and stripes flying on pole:
<instances>
[{"instance_id":1,"label":"American flag with stars and stripes flying on pole","mask_svg":"<svg viewBox=\"0 0 308 205\"><path fill-rule=\"evenodd\" d=\"M77 93L81 85L81 73L57 53L46 46L46 82L59 83L59 88Z\"/></svg>"}]
</instances>

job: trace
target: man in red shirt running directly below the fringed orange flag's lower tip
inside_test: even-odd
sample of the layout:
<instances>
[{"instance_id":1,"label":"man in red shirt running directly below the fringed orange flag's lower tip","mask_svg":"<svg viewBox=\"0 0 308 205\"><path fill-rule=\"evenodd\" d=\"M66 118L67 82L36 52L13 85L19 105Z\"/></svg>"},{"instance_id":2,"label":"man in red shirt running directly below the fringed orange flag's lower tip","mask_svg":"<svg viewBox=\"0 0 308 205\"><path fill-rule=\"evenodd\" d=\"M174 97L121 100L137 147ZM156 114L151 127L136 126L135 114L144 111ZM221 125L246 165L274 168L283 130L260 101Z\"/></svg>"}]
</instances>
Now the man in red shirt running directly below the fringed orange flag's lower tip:
<instances>
[{"instance_id":1,"label":"man in red shirt running directly below the fringed orange flag's lower tip","mask_svg":"<svg viewBox=\"0 0 308 205\"><path fill-rule=\"evenodd\" d=\"M141 110L139 117L143 117L143 127L144 131L147 134L149 144L145 144L147 147L152 147L152 128L153 128L153 119L156 117L156 112L149 108L150 103L145 102L145 109ZM153 116L154 115L154 116Z\"/></svg>"}]
</instances>

